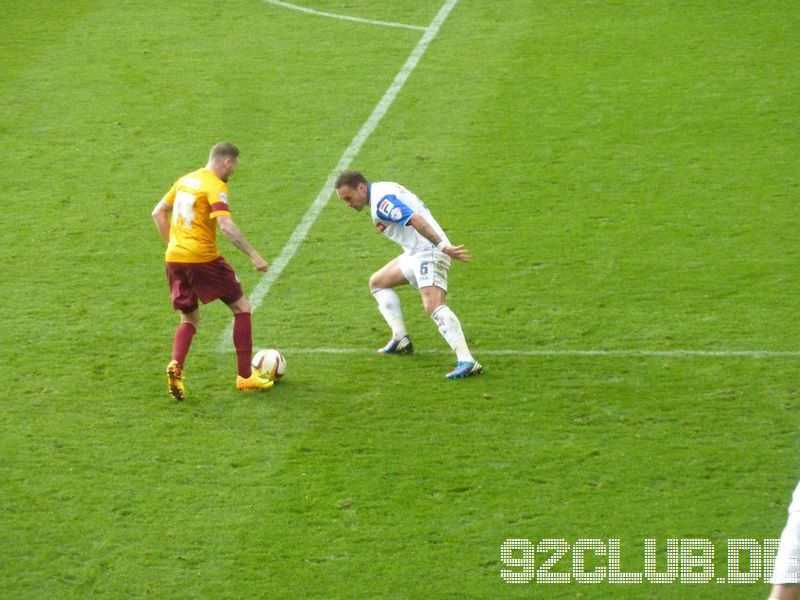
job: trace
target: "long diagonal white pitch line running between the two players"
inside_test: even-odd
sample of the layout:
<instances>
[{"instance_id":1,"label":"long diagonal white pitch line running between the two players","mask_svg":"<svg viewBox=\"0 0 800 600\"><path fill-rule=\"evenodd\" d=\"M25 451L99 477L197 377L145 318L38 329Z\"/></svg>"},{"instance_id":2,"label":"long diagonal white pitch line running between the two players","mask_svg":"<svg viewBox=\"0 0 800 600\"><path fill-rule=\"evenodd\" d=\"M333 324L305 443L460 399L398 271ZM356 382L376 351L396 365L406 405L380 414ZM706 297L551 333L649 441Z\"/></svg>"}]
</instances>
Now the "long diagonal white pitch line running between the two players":
<instances>
[{"instance_id":1,"label":"long diagonal white pitch line running between the two players","mask_svg":"<svg viewBox=\"0 0 800 600\"><path fill-rule=\"evenodd\" d=\"M291 261L294 255L297 253L300 245L303 243L303 241L305 241L308 232L311 230L311 226L319 218L319 215L322 213L322 209L325 208L325 205L328 203L328 200L333 193L333 184L336 181L336 177L338 177L339 172L344 171L350 166L350 163L364 146L364 143L367 141L369 136L372 135L372 132L375 131L378 123L380 123L381 119L394 102L394 99L397 97L397 94L400 93L400 90L405 85L409 76L414 71L417 64L419 64L422 55L425 54L425 51L433 41L433 38L435 38L436 34L439 33L439 28L444 23L447 15L450 14L450 11L457 3L458 0L447 0L447 2L442 5L442 8L439 9L438 14L433 18L431 24L425 28L425 33L422 35L422 38L419 40L419 42L417 42L414 50L411 51L411 54L409 55L408 59L406 59L405 64L400 69L400 72L394 78L394 81L392 81L389 88L383 94L383 97L373 109L372 114L361 126L361 129L358 130L358 133L356 133L355 137L350 142L350 145L342 154L341 158L339 159L339 163L328 175L328 178L322 185L322 188L317 194L317 197L314 199L314 202L308 207L308 210L306 210L306 213L303 215L300 223L292 232L289 241L286 242L286 245L281 250L281 253L270 265L269 271L264 274L253 292L250 294L249 300L252 312L255 312L256 309L261 306L261 302L264 300L267 292L272 287L272 284L276 279L278 279L280 274L286 268L286 265L289 264L289 261ZM230 323L220 336L220 349L230 350L232 347L232 332L233 323Z\"/></svg>"}]
</instances>

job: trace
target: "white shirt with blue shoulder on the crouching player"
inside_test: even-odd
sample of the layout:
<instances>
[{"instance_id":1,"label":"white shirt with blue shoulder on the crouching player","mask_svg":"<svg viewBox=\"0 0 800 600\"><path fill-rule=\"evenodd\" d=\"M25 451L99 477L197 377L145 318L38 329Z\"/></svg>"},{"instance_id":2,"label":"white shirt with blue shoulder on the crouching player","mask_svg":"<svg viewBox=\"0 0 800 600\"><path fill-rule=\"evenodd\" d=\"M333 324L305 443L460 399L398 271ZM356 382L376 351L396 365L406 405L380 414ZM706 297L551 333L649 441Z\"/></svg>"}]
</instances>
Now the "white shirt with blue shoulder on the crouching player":
<instances>
[{"instance_id":1,"label":"white shirt with blue shoulder on the crouching player","mask_svg":"<svg viewBox=\"0 0 800 600\"><path fill-rule=\"evenodd\" d=\"M375 227L390 240L400 244L406 254L434 248L433 244L408 224L414 214L421 215L443 240L450 243L428 207L399 183L377 181L369 184L369 212Z\"/></svg>"}]
</instances>

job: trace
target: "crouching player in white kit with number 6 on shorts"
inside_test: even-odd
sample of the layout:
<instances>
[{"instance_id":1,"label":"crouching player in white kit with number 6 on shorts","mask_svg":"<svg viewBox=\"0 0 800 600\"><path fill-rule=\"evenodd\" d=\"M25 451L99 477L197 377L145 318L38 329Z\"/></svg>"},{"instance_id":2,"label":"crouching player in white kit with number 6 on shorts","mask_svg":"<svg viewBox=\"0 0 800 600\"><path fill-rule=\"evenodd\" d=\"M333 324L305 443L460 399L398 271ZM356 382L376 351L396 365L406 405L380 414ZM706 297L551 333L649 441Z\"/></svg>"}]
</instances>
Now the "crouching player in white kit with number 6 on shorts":
<instances>
[{"instance_id":1,"label":"crouching player in white kit with number 6 on shorts","mask_svg":"<svg viewBox=\"0 0 800 600\"><path fill-rule=\"evenodd\" d=\"M369 206L378 230L400 244L404 252L378 269L369 279L369 290L378 310L392 328L392 339L378 352L409 354L413 351L406 331L400 298L393 288L411 284L419 289L425 311L456 353L455 369L445 375L460 379L483 372L469 351L461 323L445 304L450 259L467 262L469 251L447 239L428 208L403 186L388 181L369 183L358 171L344 171L336 179L336 193L356 211Z\"/></svg>"}]
</instances>

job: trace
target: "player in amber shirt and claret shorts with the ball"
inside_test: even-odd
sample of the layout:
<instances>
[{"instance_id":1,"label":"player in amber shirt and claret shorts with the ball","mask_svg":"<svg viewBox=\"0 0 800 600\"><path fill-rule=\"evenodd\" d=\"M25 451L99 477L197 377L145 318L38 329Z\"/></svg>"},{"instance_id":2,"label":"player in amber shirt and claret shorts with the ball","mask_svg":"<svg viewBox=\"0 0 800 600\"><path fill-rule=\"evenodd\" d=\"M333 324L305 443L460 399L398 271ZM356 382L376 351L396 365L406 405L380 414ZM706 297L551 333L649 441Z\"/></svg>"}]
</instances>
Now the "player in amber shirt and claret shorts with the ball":
<instances>
[{"instance_id":1,"label":"player in amber shirt and claret shorts with the ball","mask_svg":"<svg viewBox=\"0 0 800 600\"><path fill-rule=\"evenodd\" d=\"M240 390L272 387L269 377L251 366L250 303L236 273L217 248L219 225L222 234L250 257L256 270L266 271L269 267L231 218L227 182L238 160L239 149L235 145L216 144L206 166L178 179L153 209L153 220L167 243L167 281L172 306L181 317L173 341L172 360L167 365L169 391L176 400L186 397L183 364L200 324L199 303L217 299L233 312L236 387Z\"/></svg>"}]
</instances>

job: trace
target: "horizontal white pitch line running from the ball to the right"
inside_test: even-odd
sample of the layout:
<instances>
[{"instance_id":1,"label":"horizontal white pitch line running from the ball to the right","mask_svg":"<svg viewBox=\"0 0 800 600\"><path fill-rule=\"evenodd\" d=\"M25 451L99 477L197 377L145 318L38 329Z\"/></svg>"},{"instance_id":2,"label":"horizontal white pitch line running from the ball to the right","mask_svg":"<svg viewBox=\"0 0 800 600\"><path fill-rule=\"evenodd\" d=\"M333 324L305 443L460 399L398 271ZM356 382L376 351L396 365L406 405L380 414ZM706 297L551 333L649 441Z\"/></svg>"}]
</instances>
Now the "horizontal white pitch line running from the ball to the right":
<instances>
[{"instance_id":1,"label":"horizontal white pitch line running from the ball to the right","mask_svg":"<svg viewBox=\"0 0 800 600\"><path fill-rule=\"evenodd\" d=\"M800 358L800 350L513 350L473 348L476 356L598 356L663 358ZM375 354L368 348L286 348L291 354ZM452 354L450 350L414 350L416 354Z\"/></svg>"}]
</instances>

